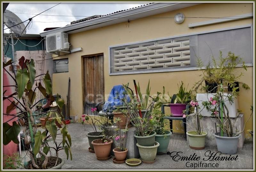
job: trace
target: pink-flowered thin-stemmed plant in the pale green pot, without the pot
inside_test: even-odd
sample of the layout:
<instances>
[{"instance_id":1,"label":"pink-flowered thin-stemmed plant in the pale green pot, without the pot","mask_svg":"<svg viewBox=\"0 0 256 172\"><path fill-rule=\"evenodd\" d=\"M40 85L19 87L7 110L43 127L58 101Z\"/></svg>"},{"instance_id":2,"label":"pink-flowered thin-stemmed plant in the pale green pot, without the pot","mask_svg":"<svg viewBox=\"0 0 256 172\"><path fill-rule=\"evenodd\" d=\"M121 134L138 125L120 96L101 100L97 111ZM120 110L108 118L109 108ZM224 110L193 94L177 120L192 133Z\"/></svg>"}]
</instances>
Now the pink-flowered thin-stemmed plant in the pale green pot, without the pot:
<instances>
[{"instance_id":1,"label":"pink-flowered thin-stemmed plant in the pale green pot, without the pot","mask_svg":"<svg viewBox=\"0 0 256 172\"><path fill-rule=\"evenodd\" d=\"M187 116L192 117L194 127L192 127L192 126L190 126L190 127L195 128L194 131L196 132L197 135L201 135L203 133L203 124L202 124L202 120L201 120L203 116L200 113L202 111L202 109L200 109L199 103L196 100L190 101L189 104L196 110L195 113L187 115ZM186 115L183 115L183 117L186 117Z\"/></svg>"}]
</instances>

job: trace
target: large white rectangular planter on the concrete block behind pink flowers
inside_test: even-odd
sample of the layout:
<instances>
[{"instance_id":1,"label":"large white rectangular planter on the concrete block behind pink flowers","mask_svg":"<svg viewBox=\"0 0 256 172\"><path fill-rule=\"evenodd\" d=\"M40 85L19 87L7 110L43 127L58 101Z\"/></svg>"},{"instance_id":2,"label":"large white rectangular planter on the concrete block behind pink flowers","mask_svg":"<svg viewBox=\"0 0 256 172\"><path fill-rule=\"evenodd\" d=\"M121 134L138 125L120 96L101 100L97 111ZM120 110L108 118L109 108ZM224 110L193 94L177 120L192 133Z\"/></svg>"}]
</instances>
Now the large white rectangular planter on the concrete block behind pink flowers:
<instances>
[{"instance_id":1,"label":"large white rectangular planter on the concrete block behind pink flowers","mask_svg":"<svg viewBox=\"0 0 256 172\"><path fill-rule=\"evenodd\" d=\"M210 100L210 98L211 97L213 97L214 95L215 95L216 93L197 93L196 94L196 100L198 101L198 103L199 103L199 107L200 107L200 110L199 111L201 111L201 109L203 109L204 108L204 106L202 105L202 102L203 101L209 101ZM223 93L224 94L224 96L227 96L228 95L228 93ZM234 100L234 102L232 103L232 104L230 104L229 103L229 101L228 101L228 98L227 97L224 97L225 98L225 104L226 104L226 106L227 106L227 108L228 108L228 115L229 115L229 117L230 118L236 118L238 115L239 115L239 113L237 113L237 109L239 109L239 107L238 107L238 101L237 101L237 98L235 98L234 96L233 96L233 100ZM212 106L213 107L213 106ZM196 109L195 109L195 112L196 112ZM208 112L207 111L207 109L206 108L204 108L202 111L201 111L201 115L202 116L211 116L211 113L212 112Z\"/></svg>"}]
</instances>

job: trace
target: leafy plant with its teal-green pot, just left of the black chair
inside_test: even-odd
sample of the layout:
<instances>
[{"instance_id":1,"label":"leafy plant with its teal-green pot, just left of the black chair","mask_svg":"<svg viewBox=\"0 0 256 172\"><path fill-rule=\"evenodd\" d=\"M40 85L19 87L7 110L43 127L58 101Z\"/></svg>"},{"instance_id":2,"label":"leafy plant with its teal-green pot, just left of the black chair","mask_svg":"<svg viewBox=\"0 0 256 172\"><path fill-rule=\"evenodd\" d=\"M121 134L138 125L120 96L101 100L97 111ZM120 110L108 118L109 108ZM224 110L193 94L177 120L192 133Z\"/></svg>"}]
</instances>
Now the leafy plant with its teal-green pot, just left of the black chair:
<instances>
[{"instance_id":1,"label":"leafy plant with its teal-green pot, just left of the black chair","mask_svg":"<svg viewBox=\"0 0 256 172\"><path fill-rule=\"evenodd\" d=\"M155 140L160 144L157 147L157 153L166 153L172 132L164 129L164 125L167 125L168 122L164 119L164 114L160 110L155 108L152 116L152 120L154 120L154 130L156 131Z\"/></svg>"}]
</instances>

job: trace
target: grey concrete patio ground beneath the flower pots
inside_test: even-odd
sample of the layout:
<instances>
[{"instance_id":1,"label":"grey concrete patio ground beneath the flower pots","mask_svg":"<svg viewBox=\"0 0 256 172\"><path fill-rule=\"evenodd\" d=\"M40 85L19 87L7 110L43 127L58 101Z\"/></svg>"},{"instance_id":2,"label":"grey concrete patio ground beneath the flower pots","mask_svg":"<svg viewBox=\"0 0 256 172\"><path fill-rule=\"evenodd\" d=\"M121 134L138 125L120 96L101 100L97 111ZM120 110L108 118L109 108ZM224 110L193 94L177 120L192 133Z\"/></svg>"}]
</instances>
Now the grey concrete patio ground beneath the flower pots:
<instances>
[{"instance_id":1,"label":"grey concrete patio ground beneath the flower pots","mask_svg":"<svg viewBox=\"0 0 256 172\"><path fill-rule=\"evenodd\" d=\"M85 125L86 130L92 131L90 125ZM184 138L184 134L172 134L170 143L169 143L169 151L170 152L182 152L180 156L192 156L194 153L196 156L200 156L200 160L198 161L174 161L170 155L167 154L157 154L156 162L153 164L144 164L141 163L139 166L131 167L124 164L114 164L112 159L107 161L98 161L96 159L95 153L88 152L88 139L86 137L87 131L84 131L84 126L81 123L70 123L68 124L68 132L72 137L72 155L73 160L66 160L65 165L62 169L253 169L253 144L252 142L245 143L242 150L238 150L236 154L230 155L237 156L236 161L204 161L207 160L204 154L206 151L218 152L217 147L206 146L204 150L194 150L189 148L189 144L186 142ZM58 140L62 140L62 137L58 137ZM62 158L66 158L66 154L64 151L59 152L59 156ZM176 153L172 153L171 155L175 155ZM195 155L194 155L195 156ZM216 157L219 155L216 155ZM222 154L221 156L228 156L226 154ZM177 156L176 156L177 158ZM203 160L204 159L204 160ZM199 165L198 165L199 162ZM200 162L204 163L203 167L200 166ZM192 165L193 167L192 167ZM196 163L197 167L194 168L194 163ZM218 167L217 164L218 163ZM214 166L214 167L204 167ZM188 166L188 167L186 167ZM191 166L191 167L190 167Z\"/></svg>"}]
</instances>

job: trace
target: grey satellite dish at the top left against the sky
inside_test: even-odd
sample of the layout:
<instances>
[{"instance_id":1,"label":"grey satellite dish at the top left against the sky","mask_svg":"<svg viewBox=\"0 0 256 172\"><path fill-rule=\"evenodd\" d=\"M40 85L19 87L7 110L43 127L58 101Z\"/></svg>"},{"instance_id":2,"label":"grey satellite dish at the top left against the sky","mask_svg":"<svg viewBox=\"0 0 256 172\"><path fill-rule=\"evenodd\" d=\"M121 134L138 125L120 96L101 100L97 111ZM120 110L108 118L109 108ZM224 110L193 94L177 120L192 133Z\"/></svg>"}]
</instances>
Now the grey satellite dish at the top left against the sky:
<instances>
[{"instance_id":1,"label":"grey satellite dish at the top left against the sky","mask_svg":"<svg viewBox=\"0 0 256 172\"><path fill-rule=\"evenodd\" d=\"M9 27L9 29L15 34L17 35L26 34L26 26L24 25L24 23L22 23L21 19L13 12L9 10L5 10L3 20L4 20L5 26Z\"/></svg>"}]
</instances>

